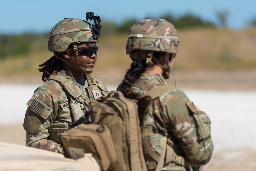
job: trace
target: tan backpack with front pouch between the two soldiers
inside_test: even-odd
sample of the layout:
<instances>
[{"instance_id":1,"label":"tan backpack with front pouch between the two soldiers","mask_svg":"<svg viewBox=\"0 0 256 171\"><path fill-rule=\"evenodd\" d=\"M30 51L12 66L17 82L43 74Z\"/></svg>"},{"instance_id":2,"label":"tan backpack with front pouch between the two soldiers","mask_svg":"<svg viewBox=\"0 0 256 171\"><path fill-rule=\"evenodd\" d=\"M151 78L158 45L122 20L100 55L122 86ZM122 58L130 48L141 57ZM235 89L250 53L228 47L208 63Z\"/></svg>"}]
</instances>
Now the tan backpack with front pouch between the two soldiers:
<instances>
[{"instance_id":1,"label":"tan backpack with front pouch between the two soldiers","mask_svg":"<svg viewBox=\"0 0 256 171\"><path fill-rule=\"evenodd\" d=\"M88 106L62 136L67 156L77 159L92 153L104 171L146 171L136 102L111 91Z\"/></svg>"}]
</instances>

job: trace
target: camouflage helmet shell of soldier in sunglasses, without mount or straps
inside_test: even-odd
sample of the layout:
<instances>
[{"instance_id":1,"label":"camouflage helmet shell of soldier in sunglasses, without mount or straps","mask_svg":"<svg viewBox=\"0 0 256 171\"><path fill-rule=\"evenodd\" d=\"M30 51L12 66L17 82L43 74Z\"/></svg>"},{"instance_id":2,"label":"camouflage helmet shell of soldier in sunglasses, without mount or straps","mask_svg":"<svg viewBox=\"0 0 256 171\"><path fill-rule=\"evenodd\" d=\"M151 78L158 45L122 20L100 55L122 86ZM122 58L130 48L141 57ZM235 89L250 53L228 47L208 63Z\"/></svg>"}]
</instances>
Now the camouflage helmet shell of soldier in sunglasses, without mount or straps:
<instances>
[{"instance_id":1,"label":"camouflage helmet shell of soldier in sunglasses, without mount or straps","mask_svg":"<svg viewBox=\"0 0 256 171\"><path fill-rule=\"evenodd\" d=\"M89 25L90 23L77 18L65 18L59 21L51 30L48 40L48 50L50 52L64 52L71 43L98 42L98 38L88 40L92 36ZM71 33L65 33L65 31L71 29L76 30L73 30ZM51 36L52 34L60 35Z\"/></svg>"}]
</instances>

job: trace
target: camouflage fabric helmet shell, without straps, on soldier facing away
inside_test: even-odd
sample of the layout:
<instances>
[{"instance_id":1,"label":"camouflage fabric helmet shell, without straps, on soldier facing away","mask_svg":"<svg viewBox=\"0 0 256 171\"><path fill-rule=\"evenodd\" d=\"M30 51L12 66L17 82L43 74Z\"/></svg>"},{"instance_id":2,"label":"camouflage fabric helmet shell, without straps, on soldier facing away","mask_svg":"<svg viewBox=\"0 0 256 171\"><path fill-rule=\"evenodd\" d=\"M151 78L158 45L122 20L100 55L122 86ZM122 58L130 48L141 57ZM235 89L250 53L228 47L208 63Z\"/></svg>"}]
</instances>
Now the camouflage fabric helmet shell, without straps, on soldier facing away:
<instances>
[{"instance_id":1,"label":"camouflage fabric helmet shell, without straps, on soldier facing away","mask_svg":"<svg viewBox=\"0 0 256 171\"><path fill-rule=\"evenodd\" d=\"M144 35L148 37L144 38ZM165 38L163 36L172 37ZM172 23L164 19L145 18L130 28L126 54L132 54L135 50L175 54L178 46L178 32Z\"/></svg>"}]
</instances>

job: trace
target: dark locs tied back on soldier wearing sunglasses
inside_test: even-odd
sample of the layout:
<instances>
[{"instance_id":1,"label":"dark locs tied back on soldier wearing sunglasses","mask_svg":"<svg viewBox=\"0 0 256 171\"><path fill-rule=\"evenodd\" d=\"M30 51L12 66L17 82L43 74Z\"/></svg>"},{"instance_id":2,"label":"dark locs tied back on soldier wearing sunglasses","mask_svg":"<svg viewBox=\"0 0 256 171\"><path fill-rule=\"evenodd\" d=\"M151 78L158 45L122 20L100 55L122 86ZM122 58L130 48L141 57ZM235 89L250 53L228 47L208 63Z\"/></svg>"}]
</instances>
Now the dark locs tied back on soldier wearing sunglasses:
<instances>
[{"instance_id":1,"label":"dark locs tied back on soldier wearing sunglasses","mask_svg":"<svg viewBox=\"0 0 256 171\"><path fill-rule=\"evenodd\" d=\"M66 54L70 53L73 50L73 45L69 45L67 50L64 52ZM52 56L50 59L48 59L46 62L39 65L38 70L40 72L43 72L42 74L42 80L45 82L50 77L51 74L57 73L62 69L62 61L58 59L56 56L63 58L62 53L53 52L54 56Z\"/></svg>"}]
</instances>

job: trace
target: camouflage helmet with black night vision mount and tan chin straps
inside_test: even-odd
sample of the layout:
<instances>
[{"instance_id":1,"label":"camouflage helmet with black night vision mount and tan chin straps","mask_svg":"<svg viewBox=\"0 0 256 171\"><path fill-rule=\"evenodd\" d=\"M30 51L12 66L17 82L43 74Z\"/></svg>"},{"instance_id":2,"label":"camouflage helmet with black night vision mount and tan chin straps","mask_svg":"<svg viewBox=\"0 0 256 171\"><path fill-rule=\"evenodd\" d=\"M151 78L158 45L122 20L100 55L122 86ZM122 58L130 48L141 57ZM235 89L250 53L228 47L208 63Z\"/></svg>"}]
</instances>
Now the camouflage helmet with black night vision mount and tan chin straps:
<instances>
[{"instance_id":1,"label":"camouflage helmet with black night vision mount and tan chin straps","mask_svg":"<svg viewBox=\"0 0 256 171\"><path fill-rule=\"evenodd\" d=\"M50 52L54 52L58 59L68 65L82 70L84 74L88 74L87 71L92 72L93 68L85 68L83 66L79 57L77 44L81 42L99 42L98 39L101 30L100 16L94 16L93 12L88 12L86 13L86 19L90 19L90 21L94 20L95 25L78 18L64 18L52 28L48 39L48 50ZM65 52L70 44L73 44L73 50L80 67L73 65L57 54L59 52Z\"/></svg>"}]
</instances>

